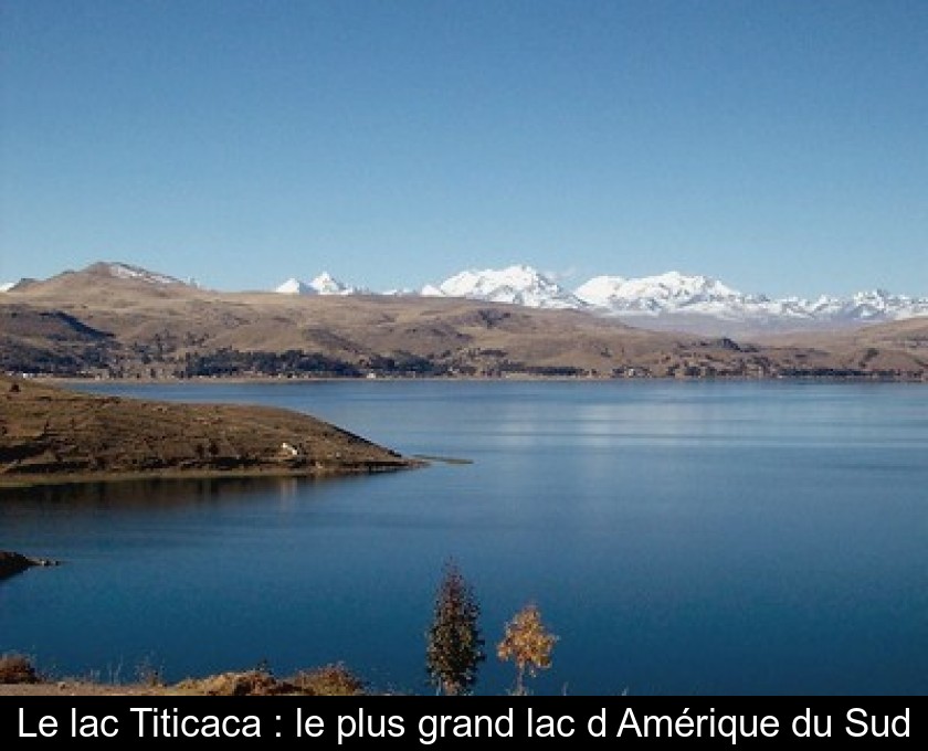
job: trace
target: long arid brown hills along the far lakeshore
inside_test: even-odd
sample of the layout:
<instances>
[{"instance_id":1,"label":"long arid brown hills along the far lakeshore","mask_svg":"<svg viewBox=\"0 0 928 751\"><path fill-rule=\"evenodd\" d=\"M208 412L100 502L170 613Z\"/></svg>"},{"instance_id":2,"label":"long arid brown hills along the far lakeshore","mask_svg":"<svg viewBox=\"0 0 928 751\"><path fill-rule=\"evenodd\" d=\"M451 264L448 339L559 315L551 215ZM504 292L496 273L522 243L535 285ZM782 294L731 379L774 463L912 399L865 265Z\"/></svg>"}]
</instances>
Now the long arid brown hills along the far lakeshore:
<instances>
[{"instance_id":1,"label":"long arid brown hills along the far lakeshore","mask_svg":"<svg viewBox=\"0 0 928 751\"><path fill-rule=\"evenodd\" d=\"M84 378L928 379L928 319L735 341L577 310L219 293L94 264L0 296L0 370Z\"/></svg>"}]
</instances>

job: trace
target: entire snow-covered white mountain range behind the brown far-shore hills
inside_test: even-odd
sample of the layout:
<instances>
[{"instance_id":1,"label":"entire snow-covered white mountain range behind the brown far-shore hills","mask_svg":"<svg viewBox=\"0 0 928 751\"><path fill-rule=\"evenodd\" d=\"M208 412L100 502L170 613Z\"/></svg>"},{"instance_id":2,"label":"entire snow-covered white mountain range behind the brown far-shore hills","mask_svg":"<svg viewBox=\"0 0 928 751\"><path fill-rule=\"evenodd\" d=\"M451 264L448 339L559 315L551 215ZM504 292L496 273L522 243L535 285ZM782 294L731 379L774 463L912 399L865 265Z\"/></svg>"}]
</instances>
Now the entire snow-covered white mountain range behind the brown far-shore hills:
<instances>
[{"instance_id":1,"label":"entire snow-covered white mountain range behind the brown far-shore hills","mask_svg":"<svg viewBox=\"0 0 928 751\"><path fill-rule=\"evenodd\" d=\"M288 279L276 292L371 294L369 289L347 285L327 273L309 283ZM861 292L846 298L822 295L815 299L773 299L732 289L709 276L679 272L640 278L594 276L568 289L527 265L463 271L444 282L405 294L587 310L646 328L713 335L845 328L928 315L928 297L894 295L884 289Z\"/></svg>"}]
</instances>

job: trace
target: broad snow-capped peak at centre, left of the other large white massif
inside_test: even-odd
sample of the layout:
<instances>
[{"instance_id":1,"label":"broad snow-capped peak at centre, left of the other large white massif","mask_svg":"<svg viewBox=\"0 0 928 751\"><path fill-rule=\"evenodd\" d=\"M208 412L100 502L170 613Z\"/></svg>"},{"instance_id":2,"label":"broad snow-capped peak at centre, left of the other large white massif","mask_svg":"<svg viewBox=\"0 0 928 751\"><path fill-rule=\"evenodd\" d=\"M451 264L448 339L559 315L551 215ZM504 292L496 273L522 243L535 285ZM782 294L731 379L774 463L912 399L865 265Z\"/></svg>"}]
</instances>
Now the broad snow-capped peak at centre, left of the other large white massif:
<instances>
[{"instance_id":1,"label":"broad snow-capped peak at centre, left of the other large white massif","mask_svg":"<svg viewBox=\"0 0 928 751\"><path fill-rule=\"evenodd\" d=\"M530 266L465 271L439 285L425 285L426 297L466 297L530 308L586 308L587 304Z\"/></svg>"}]
</instances>

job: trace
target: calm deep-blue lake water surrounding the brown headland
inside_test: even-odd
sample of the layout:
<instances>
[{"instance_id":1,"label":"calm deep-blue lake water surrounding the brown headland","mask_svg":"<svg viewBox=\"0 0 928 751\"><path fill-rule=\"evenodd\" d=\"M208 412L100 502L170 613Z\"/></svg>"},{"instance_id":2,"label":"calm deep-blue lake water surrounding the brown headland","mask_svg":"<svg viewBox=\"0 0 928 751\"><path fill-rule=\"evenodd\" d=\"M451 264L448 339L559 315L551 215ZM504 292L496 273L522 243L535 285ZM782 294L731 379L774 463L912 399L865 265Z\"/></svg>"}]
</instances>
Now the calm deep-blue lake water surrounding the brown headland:
<instances>
[{"instance_id":1,"label":"calm deep-blue lake water surrounding the brown headland","mask_svg":"<svg viewBox=\"0 0 928 751\"><path fill-rule=\"evenodd\" d=\"M59 675L168 680L342 662L430 692L453 558L481 605L559 636L536 694L928 692L928 392L905 384L86 384L309 412L405 454L326 482L0 490L0 652Z\"/></svg>"}]
</instances>

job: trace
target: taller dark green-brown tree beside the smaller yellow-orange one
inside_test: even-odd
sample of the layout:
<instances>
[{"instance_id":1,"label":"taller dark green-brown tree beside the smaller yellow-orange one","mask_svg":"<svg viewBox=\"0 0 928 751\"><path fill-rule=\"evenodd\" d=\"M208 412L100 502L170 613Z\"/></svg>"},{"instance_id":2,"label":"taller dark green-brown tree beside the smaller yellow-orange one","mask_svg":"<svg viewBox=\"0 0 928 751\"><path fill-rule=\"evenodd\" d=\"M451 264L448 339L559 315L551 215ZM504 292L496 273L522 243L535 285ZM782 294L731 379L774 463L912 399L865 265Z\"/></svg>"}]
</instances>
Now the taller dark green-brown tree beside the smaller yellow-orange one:
<instances>
[{"instance_id":1,"label":"taller dark green-brown tree beside the smaller yellow-orange one","mask_svg":"<svg viewBox=\"0 0 928 751\"><path fill-rule=\"evenodd\" d=\"M447 561L435 595L435 614L425 634L425 669L439 694L470 694L486 659L479 632L481 609L457 565Z\"/></svg>"}]
</instances>

